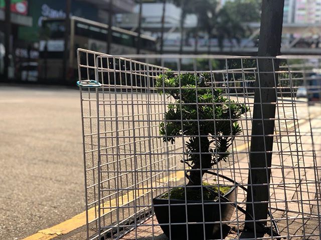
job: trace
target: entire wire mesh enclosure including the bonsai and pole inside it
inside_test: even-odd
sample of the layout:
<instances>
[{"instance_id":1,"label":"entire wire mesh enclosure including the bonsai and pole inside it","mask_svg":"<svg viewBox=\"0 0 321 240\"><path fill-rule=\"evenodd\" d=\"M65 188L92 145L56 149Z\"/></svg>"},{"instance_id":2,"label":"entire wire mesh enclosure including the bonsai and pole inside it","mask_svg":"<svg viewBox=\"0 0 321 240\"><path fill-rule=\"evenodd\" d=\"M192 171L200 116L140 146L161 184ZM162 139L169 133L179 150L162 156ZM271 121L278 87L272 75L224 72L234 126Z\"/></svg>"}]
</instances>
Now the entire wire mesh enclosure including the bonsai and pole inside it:
<instances>
[{"instance_id":1,"label":"entire wire mesh enclosure including the bonsai and pole inside it","mask_svg":"<svg viewBox=\"0 0 321 240\"><path fill-rule=\"evenodd\" d=\"M320 239L319 62L79 49L88 239Z\"/></svg>"}]
</instances>

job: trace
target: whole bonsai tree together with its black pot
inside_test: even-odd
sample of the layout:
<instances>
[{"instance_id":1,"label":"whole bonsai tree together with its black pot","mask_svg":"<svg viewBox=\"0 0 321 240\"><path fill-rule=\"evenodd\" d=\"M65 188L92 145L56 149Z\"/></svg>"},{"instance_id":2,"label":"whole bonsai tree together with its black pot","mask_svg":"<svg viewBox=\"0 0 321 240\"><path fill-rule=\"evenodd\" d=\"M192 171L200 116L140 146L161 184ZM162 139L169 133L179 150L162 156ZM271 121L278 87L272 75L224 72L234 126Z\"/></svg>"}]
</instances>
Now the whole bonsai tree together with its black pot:
<instances>
[{"instance_id":1,"label":"whole bonsai tree together with its black pot","mask_svg":"<svg viewBox=\"0 0 321 240\"><path fill-rule=\"evenodd\" d=\"M242 129L238 120L248 111L245 104L235 103L223 95L222 88L212 85L207 73L158 76L159 93L172 97L159 132L164 141L174 143L184 136L186 185L172 188L153 199L154 212L164 233L171 239L221 238L221 226L234 211L237 188L204 182L203 176L221 161ZM222 196L222 198L221 198ZM224 232L224 229L222 229ZM224 237L224 236L223 236Z\"/></svg>"}]
</instances>

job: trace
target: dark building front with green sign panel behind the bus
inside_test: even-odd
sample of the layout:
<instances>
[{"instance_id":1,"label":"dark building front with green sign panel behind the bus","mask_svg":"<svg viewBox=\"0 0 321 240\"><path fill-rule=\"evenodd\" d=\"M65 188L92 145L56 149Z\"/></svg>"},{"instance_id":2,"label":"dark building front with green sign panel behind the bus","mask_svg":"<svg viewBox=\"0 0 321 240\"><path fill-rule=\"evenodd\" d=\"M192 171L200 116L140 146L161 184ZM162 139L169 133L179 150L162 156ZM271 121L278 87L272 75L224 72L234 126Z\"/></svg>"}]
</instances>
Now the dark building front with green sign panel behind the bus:
<instances>
[{"instance_id":1,"label":"dark building front with green sign panel behind the bus","mask_svg":"<svg viewBox=\"0 0 321 240\"><path fill-rule=\"evenodd\" d=\"M134 0L113 0L113 13L132 12ZM15 0L11 4L10 49L5 49L5 0L0 0L0 76L4 72L5 51L10 53L10 77L19 79L21 66L36 65L42 19L64 18L66 0ZM110 0L71 0L71 15L101 23L108 22ZM36 68L36 67L35 67Z\"/></svg>"}]
</instances>

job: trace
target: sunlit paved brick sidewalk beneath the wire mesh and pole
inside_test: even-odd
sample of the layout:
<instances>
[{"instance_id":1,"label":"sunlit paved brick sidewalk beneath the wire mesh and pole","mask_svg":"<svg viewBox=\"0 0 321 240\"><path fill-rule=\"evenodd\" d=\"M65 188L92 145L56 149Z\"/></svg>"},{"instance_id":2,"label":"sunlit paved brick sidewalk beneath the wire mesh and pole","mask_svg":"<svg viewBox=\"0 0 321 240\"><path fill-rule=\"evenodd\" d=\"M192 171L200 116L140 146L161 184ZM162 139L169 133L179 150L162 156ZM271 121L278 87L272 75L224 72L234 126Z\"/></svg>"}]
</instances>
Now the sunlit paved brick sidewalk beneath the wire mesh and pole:
<instances>
[{"instance_id":1,"label":"sunlit paved brick sidewalk beneath the wire mesh and pole","mask_svg":"<svg viewBox=\"0 0 321 240\"><path fill-rule=\"evenodd\" d=\"M313 118L311 121L311 124L313 126L319 126L321 125L321 116L318 115L317 117ZM293 138L294 136L288 136L284 134L281 135L281 139L278 139L278 141L282 142L290 142L286 145L286 147L283 149L284 151L289 150L289 148L293 149L295 148L295 145L297 142L302 142L302 147L304 147L305 153L299 157L299 159L296 159L291 156L287 155L283 159L279 158L277 154L274 154L273 157L273 166L279 166L284 165L287 168L284 168L284 179L282 177L282 173L280 172L281 169L275 168L272 170L272 177L271 177L271 183L274 184L274 187L270 188L271 190L271 207L272 207L272 214L273 217L277 219L277 225L281 231L281 234L284 236L295 236L295 235L306 235L305 239L318 239L318 236L313 236L313 234L318 234L319 228L318 228L318 217L313 216L313 214L317 213L316 209L316 202L313 200L308 199L314 199L315 194L315 183L313 183L314 179L314 168L313 164L313 157L310 154L312 152L311 148L311 136L309 133L309 122L301 122L299 125L300 132L302 134L302 137L299 141L295 141ZM291 132L295 132L294 128L292 127ZM316 142L315 147L317 147L315 150L316 152L320 153L321 151L321 128L315 127L314 131L314 141ZM277 139L275 139L277 140ZM278 144L274 144L274 150L278 149ZM321 158L319 157L320 154L318 154L317 163L321 163ZM281 161L281 162L280 162ZM246 169L248 165L248 159L246 157L246 154L243 155L243 157L238 158L237 163L238 168ZM301 165L301 168L299 165ZM239 173L236 175L236 180L239 182L246 183L247 179L244 178L244 175L247 174L247 170L240 170ZM294 187L292 186L292 181L298 181L298 177L300 177L300 181L303 182L302 184L296 183L294 184ZM311 184L305 184L304 181L310 181ZM285 184L283 184L285 183ZM288 211L285 213L282 208L285 208L284 205L284 189L286 191L286 198L288 200L287 209ZM246 197L246 193L243 191L239 191L238 194L238 201L244 201ZM282 201L283 199L283 201ZM298 206L295 203L295 199L301 199L303 200L303 205ZM273 203L274 201L281 201L278 203ZM293 202L292 202L293 201ZM278 209L277 209L278 208ZM304 212L305 220L302 222L303 218L302 215L297 212ZM309 214L312 214L309 216ZM279 218L279 219L278 219ZM291 220L287 220L291 219ZM234 221L234 223L231 223L231 231L229 235L225 239L236 239L238 238L238 233L241 233L241 229L243 229L244 223L242 222L245 219L244 214L238 211L238 216L236 217L236 211L234 211L234 215L232 216L231 221ZM236 225L236 222L239 222L239 225ZM126 235L124 235L121 239L122 240L166 240L168 239L166 235L163 233L160 226L151 226L151 224L157 224L157 220L155 217L148 219L143 224L139 225L136 229L130 231ZM239 229L239 232L238 230ZM94 231L92 232L94 233ZM311 236L312 235L312 236ZM268 237L266 234L265 237ZM86 231L82 227L81 229L78 229L77 231L71 232L70 234L56 237L55 239L86 239ZM294 238L293 238L294 239ZM296 238L295 238L296 239Z\"/></svg>"}]
</instances>

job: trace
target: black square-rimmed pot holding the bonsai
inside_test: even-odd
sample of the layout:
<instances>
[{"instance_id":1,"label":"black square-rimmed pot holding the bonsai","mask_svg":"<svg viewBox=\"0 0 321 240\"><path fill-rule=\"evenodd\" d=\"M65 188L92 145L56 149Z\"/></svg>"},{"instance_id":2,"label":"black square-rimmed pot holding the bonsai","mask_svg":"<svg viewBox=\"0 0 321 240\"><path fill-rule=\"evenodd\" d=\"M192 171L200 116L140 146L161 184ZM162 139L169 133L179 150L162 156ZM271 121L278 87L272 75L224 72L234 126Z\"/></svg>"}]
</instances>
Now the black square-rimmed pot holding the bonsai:
<instances>
[{"instance_id":1,"label":"black square-rimmed pot holding the bonsai","mask_svg":"<svg viewBox=\"0 0 321 240\"><path fill-rule=\"evenodd\" d=\"M161 225L162 230L170 238L171 226L171 239L187 239L187 224L185 223L187 221L185 200L171 199L169 204L169 199L161 198L161 196L162 195L159 195L153 199L153 205L158 223L164 224ZM237 197L237 188L233 186L224 196L232 202L235 201ZM202 201L188 200L187 202L198 203L187 205L189 239L204 239ZM171 214L169 214L169 205L171 208ZM222 218L220 218L220 205ZM218 199L215 201L204 201L205 239L221 239L221 224L207 222L229 221L233 212L234 206L229 203L223 203L221 201L220 204ZM224 227L224 224L222 225ZM224 229L222 229L222 231L224 234ZM222 237L224 238L225 236L223 235Z\"/></svg>"}]
</instances>

